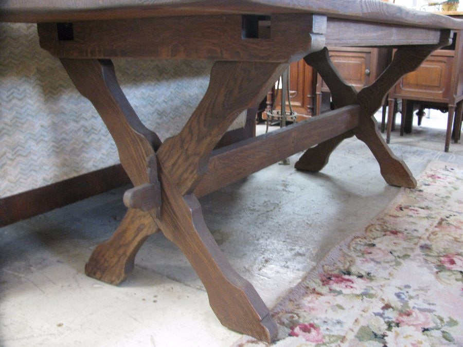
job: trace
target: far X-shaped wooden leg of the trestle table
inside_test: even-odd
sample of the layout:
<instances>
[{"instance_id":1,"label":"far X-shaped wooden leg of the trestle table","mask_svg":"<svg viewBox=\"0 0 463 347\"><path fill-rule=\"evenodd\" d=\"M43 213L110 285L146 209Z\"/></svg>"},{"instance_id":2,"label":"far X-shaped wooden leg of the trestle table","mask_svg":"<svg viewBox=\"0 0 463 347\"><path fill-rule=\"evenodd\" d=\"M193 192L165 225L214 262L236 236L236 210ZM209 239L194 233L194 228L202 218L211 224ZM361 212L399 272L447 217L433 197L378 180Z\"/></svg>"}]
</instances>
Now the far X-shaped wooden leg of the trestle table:
<instances>
[{"instance_id":1,"label":"far X-shaped wooden leg of the trestle table","mask_svg":"<svg viewBox=\"0 0 463 347\"><path fill-rule=\"evenodd\" d=\"M328 162L331 152L347 137L355 134L364 141L371 150L381 168L386 182L393 186L416 187L416 181L405 163L397 158L388 148L377 129L373 114L383 104L384 96L395 83L407 72L415 70L438 46L402 47L396 51L393 61L372 85L363 88L359 93L346 84L331 63L328 50L309 54L305 61L313 66L331 90L336 108L349 104L359 104L362 114L359 126L352 132L339 135L331 140L319 143L310 148L296 163L296 169L316 172Z\"/></svg>"}]
</instances>

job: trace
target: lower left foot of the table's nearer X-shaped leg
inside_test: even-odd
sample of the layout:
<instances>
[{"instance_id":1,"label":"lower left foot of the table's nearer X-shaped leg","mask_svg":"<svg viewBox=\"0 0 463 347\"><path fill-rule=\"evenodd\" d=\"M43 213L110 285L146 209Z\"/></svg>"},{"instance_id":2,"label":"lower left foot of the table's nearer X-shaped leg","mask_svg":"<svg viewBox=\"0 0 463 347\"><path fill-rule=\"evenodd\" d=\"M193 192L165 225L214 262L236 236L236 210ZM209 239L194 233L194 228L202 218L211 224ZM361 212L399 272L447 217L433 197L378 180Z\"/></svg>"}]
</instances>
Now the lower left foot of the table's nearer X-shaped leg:
<instances>
[{"instance_id":1,"label":"lower left foot of the table's nearer X-shaped leg","mask_svg":"<svg viewBox=\"0 0 463 347\"><path fill-rule=\"evenodd\" d=\"M129 209L111 239L95 248L85 274L106 283L121 283L132 272L141 245L157 231L149 213Z\"/></svg>"}]
</instances>

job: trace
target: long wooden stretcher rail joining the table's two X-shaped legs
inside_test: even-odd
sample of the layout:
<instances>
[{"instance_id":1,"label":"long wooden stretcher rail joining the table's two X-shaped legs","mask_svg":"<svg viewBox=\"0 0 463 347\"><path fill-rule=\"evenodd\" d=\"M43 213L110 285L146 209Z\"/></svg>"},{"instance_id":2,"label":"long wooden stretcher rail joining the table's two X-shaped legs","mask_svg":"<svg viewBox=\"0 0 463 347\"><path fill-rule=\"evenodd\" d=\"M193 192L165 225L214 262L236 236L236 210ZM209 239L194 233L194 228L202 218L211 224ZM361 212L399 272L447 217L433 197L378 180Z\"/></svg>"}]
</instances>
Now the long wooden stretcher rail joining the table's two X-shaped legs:
<instances>
[{"instance_id":1,"label":"long wooden stretcher rail joining the table's two X-shaped legs","mask_svg":"<svg viewBox=\"0 0 463 347\"><path fill-rule=\"evenodd\" d=\"M198 197L225 187L269 165L352 130L360 106L350 105L317 117L228 145L212 152L209 168L194 190Z\"/></svg>"}]
</instances>

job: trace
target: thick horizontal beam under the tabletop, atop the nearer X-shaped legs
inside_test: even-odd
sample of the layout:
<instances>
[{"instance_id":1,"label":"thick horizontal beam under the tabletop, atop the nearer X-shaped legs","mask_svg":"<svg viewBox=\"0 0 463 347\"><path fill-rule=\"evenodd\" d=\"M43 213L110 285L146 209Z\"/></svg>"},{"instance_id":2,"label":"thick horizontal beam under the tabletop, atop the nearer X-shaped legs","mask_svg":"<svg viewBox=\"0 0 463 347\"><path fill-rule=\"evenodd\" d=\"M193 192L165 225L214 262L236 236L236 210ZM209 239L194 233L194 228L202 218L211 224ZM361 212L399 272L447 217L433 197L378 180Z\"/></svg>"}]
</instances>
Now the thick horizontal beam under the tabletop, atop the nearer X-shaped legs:
<instances>
[{"instance_id":1,"label":"thick horizontal beam under the tabletop, atop the nearer X-shaped legs","mask_svg":"<svg viewBox=\"0 0 463 347\"><path fill-rule=\"evenodd\" d=\"M241 15L147 18L73 23L73 40L60 40L56 23L38 25L40 46L59 58L157 58L230 61L299 60L322 49L326 17L278 14L271 38L243 38ZM179 25L180 24L180 25ZM294 33L298 34L295 35ZM226 44L223 44L226 42ZM287 49L281 49L284 46Z\"/></svg>"}]
</instances>

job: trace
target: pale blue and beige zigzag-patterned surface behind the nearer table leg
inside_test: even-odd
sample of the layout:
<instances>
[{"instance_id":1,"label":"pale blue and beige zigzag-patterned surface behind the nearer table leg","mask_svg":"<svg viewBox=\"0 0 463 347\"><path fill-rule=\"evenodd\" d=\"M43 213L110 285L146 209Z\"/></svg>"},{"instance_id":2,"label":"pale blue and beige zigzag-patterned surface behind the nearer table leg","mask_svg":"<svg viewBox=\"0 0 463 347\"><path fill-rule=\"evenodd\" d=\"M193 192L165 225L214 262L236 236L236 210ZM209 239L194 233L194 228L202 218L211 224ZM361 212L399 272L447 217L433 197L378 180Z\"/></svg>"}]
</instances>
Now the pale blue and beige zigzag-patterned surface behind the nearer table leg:
<instances>
[{"instance_id":1,"label":"pale blue and beige zigzag-patterned surface behind the nearer table leg","mask_svg":"<svg viewBox=\"0 0 463 347\"><path fill-rule=\"evenodd\" d=\"M210 63L114 60L140 119L179 132L209 82ZM234 127L244 125L239 117ZM0 23L0 198L118 163L113 139L34 24Z\"/></svg>"}]
</instances>

